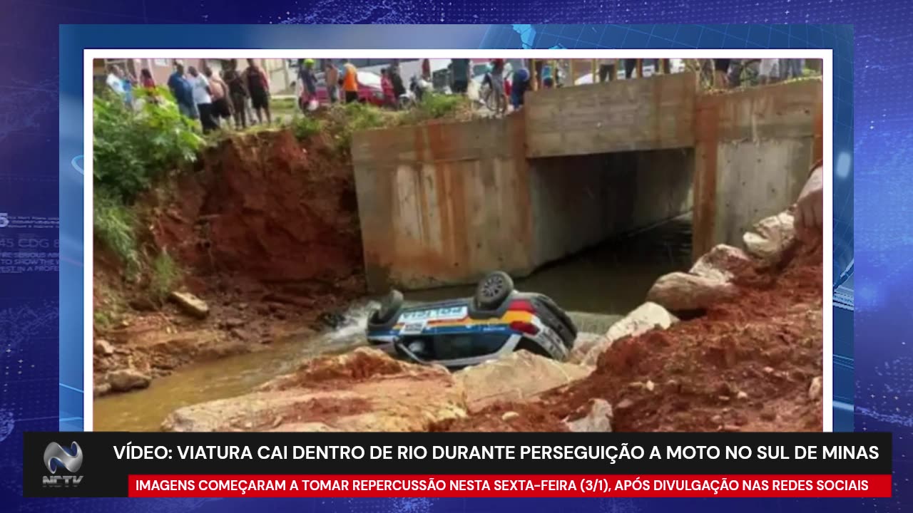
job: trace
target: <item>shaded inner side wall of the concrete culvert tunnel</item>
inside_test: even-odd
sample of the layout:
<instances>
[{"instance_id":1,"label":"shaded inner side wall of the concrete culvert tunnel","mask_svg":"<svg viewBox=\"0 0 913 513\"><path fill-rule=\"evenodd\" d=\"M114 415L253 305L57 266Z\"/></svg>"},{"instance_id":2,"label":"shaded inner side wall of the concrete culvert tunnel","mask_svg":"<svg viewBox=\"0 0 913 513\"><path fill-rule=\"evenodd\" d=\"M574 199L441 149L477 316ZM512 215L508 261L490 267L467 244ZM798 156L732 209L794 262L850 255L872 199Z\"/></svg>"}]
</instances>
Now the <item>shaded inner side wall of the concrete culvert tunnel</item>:
<instances>
[{"instance_id":1,"label":"shaded inner side wall of the concrete culvert tunnel","mask_svg":"<svg viewBox=\"0 0 913 513\"><path fill-rule=\"evenodd\" d=\"M690 150L530 160L533 264L691 210Z\"/></svg>"}]
</instances>

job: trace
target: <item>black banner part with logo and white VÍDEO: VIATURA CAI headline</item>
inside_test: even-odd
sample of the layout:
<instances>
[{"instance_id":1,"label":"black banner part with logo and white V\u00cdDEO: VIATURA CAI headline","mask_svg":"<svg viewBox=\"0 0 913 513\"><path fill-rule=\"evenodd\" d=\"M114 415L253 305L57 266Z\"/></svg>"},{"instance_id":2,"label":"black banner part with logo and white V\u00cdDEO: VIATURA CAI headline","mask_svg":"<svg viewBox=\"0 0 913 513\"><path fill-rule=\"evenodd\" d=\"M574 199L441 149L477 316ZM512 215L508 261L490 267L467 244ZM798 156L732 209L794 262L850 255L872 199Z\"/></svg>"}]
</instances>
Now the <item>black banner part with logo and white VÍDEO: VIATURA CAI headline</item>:
<instances>
[{"instance_id":1,"label":"black banner part with logo and white V\u00cdDEO: VIATURA CAI headline","mask_svg":"<svg viewBox=\"0 0 913 513\"><path fill-rule=\"evenodd\" d=\"M128 475L886 475L889 433L26 433L26 497Z\"/></svg>"}]
</instances>

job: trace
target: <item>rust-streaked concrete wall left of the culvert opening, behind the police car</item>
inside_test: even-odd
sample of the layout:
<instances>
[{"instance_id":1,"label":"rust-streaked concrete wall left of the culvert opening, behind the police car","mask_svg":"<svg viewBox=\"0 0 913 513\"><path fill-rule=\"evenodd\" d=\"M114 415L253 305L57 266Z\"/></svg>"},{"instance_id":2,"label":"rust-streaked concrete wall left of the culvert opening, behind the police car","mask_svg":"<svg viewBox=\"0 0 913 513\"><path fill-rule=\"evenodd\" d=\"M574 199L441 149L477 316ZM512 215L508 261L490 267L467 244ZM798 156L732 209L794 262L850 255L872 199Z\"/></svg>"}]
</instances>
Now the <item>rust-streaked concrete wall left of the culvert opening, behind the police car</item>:
<instances>
[{"instance_id":1,"label":"rust-streaked concrete wall left of the culvert opening, behind the police car","mask_svg":"<svg viewBox=\"0 0 913 513\"><path fill-rule=\"evenodd\" d=\"M467 283L493 269L529 274L522 128L516 118L355 134L369 288Z\"/></svg>"}]
</instances>

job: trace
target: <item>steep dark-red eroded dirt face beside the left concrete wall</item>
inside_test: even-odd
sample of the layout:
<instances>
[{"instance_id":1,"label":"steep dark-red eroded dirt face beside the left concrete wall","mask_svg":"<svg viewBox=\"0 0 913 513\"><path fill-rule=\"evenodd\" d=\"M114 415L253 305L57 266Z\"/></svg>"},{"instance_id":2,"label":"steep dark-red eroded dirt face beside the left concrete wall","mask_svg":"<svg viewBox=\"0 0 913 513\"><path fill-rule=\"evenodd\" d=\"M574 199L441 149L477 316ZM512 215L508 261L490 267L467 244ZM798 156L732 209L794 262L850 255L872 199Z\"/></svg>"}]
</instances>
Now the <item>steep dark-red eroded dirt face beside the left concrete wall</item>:
<instances>
[{"instance_id":1,"label":"steep dark-red eroded dirt face beside the left concrete wall","mask_svg":"<svg viewBox=\"0 0 913 513\"><path fill-rule=\"evenodd\" d=\"M341 153L268 131L226 139L202 162L152 228L198 276L334 285L360 274L352 165Z\"/></svg>"}]
</instances>

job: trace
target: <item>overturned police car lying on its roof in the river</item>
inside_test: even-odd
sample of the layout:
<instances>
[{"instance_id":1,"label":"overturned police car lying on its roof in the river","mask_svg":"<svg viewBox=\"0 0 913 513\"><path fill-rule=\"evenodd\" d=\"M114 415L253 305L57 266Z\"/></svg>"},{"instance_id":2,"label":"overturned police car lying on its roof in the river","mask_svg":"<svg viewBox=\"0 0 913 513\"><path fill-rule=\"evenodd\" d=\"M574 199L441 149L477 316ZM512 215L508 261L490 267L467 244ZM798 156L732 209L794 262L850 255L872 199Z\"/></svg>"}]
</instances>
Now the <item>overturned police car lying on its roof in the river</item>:
<instances>
[{"instance_id":1,"label":"overturned police car lying on its roof in the river","mask_svg":"<svg viewBox=\"0 0 913 513\"><path fill-rule=\"evenodd\" d=\"M484 277L473 298L404 307L392 290L368 318L367 339L383 351L451 369L526 350L564 361L577 328L551 298L519 292L507 273Z\"/></svg>"}]
</instances>

